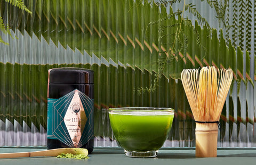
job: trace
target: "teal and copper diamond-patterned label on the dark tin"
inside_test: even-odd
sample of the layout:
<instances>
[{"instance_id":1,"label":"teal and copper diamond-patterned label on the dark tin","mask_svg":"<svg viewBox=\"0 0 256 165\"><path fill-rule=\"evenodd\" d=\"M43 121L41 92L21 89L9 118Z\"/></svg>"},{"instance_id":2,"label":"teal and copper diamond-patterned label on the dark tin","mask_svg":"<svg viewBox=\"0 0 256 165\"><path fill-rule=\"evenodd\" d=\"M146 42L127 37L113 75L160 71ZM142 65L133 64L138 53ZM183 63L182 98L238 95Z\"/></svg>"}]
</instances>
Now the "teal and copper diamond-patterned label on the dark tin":
<instances>
[{"instance_id":1,"label":"teal and copper diamond-patterned label on the dark tin","mask_svg":"<svg viewBox=\"0 0 256 165\"><path fill-rule=\"evenodd\" d=\"M74 90L47 101L47 138L81 147L93 137L93 99Z\"/></svg>"}]
</instances>

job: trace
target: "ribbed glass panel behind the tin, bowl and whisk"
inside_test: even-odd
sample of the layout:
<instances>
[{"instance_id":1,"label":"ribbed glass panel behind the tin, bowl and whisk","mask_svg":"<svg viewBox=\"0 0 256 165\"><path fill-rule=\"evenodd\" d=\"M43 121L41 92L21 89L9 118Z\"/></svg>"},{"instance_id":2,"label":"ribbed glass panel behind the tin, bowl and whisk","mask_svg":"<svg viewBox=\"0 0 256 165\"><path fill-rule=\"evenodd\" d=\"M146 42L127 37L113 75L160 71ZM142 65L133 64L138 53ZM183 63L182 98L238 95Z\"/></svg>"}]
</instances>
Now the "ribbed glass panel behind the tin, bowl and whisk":
<instances>
[{"instance_id":1,"label":"ribbed glass panel behind the tin, bowl and whisk","mask_svg":"<svg viewBox=\"0 0 256 165\"><path fill-rule=\"evenodd\" d=\"M0 146L46 146L47 70L84 67L95 76L95 147L118 146L108 108L127 106L174 108L164 147L194 147L195 122L180 72L215 65L234 72L218 146L255 147L256 1L219 0L219 11L210 1L170 1L167 6L133 0L24 2L33 14L0 2L0 16L13 37L0 32L9 43L0 44ZM180 26L179 16L171 15L185 4L183 18L189 21ZM192 13L195 8L211 31ZM221 12L224 18L218 20ZM177 28L183 47L172 47L178 43ZM155 92L139 94L141 86L154 84L166 55L172 57L165 50L179 50L178 60L165 65Z\"/></svg>"}]
</instances>

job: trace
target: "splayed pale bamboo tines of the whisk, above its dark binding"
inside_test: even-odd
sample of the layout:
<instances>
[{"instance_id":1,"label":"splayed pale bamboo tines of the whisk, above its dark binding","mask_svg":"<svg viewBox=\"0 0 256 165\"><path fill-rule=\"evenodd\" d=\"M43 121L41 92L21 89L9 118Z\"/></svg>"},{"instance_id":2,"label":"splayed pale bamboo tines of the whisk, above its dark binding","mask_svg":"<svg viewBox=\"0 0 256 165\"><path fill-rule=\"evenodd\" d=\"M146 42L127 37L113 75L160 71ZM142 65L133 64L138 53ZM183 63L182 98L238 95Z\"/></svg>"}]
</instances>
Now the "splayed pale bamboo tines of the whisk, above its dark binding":
<instances>
[{"instance_id":1,"label":"splayed pale bamboo tines of the whisk, above its dark binding","mask_svg":"<svg viewBox=\"0 0 256 165\"><path fill-rule=\"evenodd\" d=\"M214 66L182 71L181 81L196 121L219 121L232 79L231 69Z\"/></svg>"}]
</instances>

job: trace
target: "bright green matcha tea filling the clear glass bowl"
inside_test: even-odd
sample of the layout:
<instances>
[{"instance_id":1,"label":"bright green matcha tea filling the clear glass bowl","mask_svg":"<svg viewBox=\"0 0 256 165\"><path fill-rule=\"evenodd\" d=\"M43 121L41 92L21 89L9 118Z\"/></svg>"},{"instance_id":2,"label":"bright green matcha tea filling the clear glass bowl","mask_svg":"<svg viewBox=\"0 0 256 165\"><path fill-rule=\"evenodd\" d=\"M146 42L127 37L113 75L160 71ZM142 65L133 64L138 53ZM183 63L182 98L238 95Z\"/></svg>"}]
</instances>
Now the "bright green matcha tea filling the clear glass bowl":
<instances>
[{"instance_id":1,"label":"bright green matcha tea filling the clear glass bowl","mask_svg":"<svg viewBox=\"0 0 256 165\"><path fill-rule=\"evenodd\" d=\"M162 147L172 127L174 112L129 111L109 112L111 128L119 145L136 152Z\"/></svg>"}]
</instances>

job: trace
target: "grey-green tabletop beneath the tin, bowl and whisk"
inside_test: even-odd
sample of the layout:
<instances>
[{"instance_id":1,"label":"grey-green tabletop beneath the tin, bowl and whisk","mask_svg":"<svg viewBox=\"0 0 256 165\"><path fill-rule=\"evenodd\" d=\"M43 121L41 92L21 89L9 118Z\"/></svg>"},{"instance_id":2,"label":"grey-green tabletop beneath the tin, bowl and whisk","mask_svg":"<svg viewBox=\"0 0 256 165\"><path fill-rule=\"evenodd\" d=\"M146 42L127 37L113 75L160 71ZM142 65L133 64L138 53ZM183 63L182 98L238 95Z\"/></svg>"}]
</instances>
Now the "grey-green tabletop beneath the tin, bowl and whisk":
<instances>
[{"instance_id":1,"label":"grey-green tabletop beneath the tin, bowl and whisk","mask_svg":"<svg viewBox=\"0 0 256 165\"><path fill-rule=\"evenodd\" d=\"M40 151L34 148L0 148L0 153ZM121 149L94 149L89 159L67 159L55 157L1 159L3 164L256 164L256 149L218 149L217 158L196 158L195 149L161 149L156 158L129 158Z\"/></svg>"}]
</instances>

